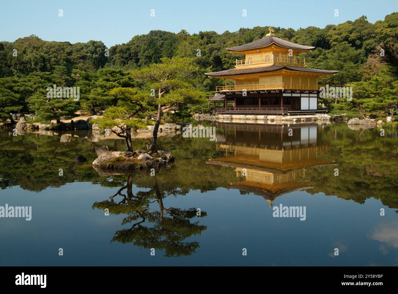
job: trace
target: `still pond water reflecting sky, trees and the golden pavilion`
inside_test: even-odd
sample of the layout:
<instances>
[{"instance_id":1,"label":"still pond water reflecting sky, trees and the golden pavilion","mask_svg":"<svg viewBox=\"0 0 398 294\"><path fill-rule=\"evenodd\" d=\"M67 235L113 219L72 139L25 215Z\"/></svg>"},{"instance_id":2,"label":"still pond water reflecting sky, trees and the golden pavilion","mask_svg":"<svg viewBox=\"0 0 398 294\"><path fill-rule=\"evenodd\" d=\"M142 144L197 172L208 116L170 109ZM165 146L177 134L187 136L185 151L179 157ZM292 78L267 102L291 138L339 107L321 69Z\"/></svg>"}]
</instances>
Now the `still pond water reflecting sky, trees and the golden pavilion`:
<instances>
[{"instance_id":1,"label":"still pond water reflecting sky, trees and the golden pavilion","mask_svg":"<svg viewBox=\"0 0 398 294\"><path fill-rule=\"evenodd\" d=\"M95 147L120 139L0 131L0 206L32 207L30 221L0 218L0 265L398 264L395 133L201 124L217 140L160 137L176 161L155 176L92 168ZM273 217L281 205L305 220Z\"/></svg>"}]
</instances>

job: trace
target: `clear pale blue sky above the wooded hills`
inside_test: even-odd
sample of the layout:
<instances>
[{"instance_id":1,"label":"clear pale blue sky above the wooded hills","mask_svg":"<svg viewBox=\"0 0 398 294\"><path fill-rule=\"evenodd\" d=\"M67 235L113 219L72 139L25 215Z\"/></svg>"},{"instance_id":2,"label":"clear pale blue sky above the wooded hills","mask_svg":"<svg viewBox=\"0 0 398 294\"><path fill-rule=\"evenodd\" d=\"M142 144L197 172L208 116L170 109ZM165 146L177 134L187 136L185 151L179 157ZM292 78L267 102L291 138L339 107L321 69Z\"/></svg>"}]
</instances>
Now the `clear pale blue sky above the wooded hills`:
<instances>
[{"instance_id":1,"label":"clear pale blue sky above the wooded hills","mask_svg":"<svg viewBox=\"0 0 398 294\"><path fill-rule=\"evenodd\" d=\"M273 4L274 3L274 4ZM59 17L59 9L63 17ZM150 16L154 9L155 16ZM242 10L247 16L242 16ZM339 16L334 16L334 10ZM237 31L240 27L325 27L355 20L384 20L398 11L397 0L235 1L235 0L0 0L0 41L37 35L71 43L101 40L108 47L162 29L178 33Z\"/></svg>"}]
</instances>

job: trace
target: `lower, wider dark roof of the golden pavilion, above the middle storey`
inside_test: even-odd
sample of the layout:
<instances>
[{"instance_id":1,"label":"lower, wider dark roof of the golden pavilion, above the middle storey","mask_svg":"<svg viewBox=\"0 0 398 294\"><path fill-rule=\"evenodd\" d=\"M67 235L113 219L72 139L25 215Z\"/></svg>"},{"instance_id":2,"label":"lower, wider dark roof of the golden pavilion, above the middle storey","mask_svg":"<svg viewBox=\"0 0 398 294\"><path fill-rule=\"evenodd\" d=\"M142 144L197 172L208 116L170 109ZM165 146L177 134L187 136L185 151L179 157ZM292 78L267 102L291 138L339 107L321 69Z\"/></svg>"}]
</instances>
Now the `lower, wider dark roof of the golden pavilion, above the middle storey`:
<instances>
[{"instance_id":1,"label":"lower, wider dark roof of the golden pavilion, above the middle storey","mask_svg":"<svg viewBox=\"0 0 398 294\"><path fill-rule=\"evenodd\" d=\"M254 68L243 68L243 69L228 69L226 71L218 71L216 73L205 73L208 76L230 76L234 74L249 74L249 73L265 73L269 71L277 71L279 69L287 69L289 71L303 71L306 73L322 73L322 74L334 74L338 71L325 71L323 69L309 69L307 67L288 67L285 65L271 65L267 67L254 67Z\"/></svg>"}]
</instances>

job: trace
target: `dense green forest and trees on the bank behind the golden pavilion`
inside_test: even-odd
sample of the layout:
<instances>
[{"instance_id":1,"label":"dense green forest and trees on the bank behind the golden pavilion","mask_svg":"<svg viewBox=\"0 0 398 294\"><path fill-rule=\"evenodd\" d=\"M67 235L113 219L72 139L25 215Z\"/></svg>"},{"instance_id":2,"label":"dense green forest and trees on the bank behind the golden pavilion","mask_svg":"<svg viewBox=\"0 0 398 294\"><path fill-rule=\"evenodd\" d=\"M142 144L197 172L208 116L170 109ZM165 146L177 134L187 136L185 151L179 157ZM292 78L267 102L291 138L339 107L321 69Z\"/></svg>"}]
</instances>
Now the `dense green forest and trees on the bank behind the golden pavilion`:
<instances>
[{"instance_id":1,"label":"dense green forest and trees on the bank behind the golden pavilion","mask_svg":"<svg viewBox=\"0 0 398 294\"><path fill-rule=\"evenodd\" d=\"M109 50L101 41L71 44L44 41L35 35L14 42L3 41L0 42L0 118L7 118L10 112L17 111L37 113L42 120L68 116L78 108L91 111L92 114L103 111L117 106L117 100L109 94L113 88L133 87L148 91L153 87L153 81L136 79L137 76L132 76L129 71L146 70L170 58L192 58L196 70L189 80L182 81L191 83L195 90L209 96L222 81L207 78L204 73L231 69L235 59L242 59L242 55L231 54L225 48L255 41L267 32L268 26L241 28L237 32L225 31L221 34L201 31L191 35L185 30L179 33L153 30L146 35L133 37L128 43L112 46ZM385 71L380 72L386 66L380 57L380 46L392 44L392 52L397 52L398 13L387 15L375 24L362 16L355 21L327 25L322 29L307 27L296 31L274 27L274 33L294 43L317 47L312 52L301 54L308 67L339 71L338 74L320 79L320 84L345 86L361 81L367 83L372 76L377 76L376 79L385 84L389 82ZM394 71L388 73L393 76ZM365 85L369 91L366 95L374 96L374 82ZM75 102L76 109L74 106L54 107L60 102L45 99L45 89L53 84L80 87L81 99ZM389 85L389 88L396 87L396 84ZM332 113L359 115L347 103L335 104L334 99L321 102ZM365 103L361 107L368 114L373 111L382 113L395 104L397 92L392 91L388 93L388 103L379 103L376 108L374 103L371 106ZM156 111L156 103L152 106ZM206 102L195 101L189 106L194 111L208 110ZM183 121L183 116L175 115L172 119Z\"/></svg>"}]
</instances>

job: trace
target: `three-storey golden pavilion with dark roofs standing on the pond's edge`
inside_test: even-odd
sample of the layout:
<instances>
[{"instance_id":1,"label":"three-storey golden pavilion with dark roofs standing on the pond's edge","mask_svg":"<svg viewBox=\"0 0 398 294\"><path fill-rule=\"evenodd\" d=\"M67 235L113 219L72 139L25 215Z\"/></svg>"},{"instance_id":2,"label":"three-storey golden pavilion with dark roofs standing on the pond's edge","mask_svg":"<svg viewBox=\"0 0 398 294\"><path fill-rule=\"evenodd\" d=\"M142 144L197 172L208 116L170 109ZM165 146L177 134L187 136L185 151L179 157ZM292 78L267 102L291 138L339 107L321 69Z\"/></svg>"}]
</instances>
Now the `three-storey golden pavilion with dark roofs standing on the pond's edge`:
<instances>
[{"instance_id":1,"label":"three-storey golden pavilion with dark roofs standing on the pond's edge","mask_svg":"<svg viewBox=\"0 0 398 294\"><path fill-rule=\"evenodd\" d=\"M206 73L225 80L208 101L214 102L217 114L316 114L318 77L338 71L310 69L305 59L296 58L298 53L314 48L275 37L271 27L257 41L226 48L230 53L245 55L245 59L236 59L234 69ZM234 84L229 85L228 80ZM216 108L216 102L223 107Z\"/></svg>"}]
</instances>

